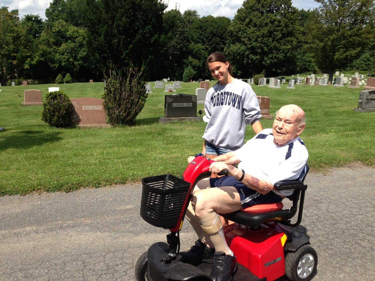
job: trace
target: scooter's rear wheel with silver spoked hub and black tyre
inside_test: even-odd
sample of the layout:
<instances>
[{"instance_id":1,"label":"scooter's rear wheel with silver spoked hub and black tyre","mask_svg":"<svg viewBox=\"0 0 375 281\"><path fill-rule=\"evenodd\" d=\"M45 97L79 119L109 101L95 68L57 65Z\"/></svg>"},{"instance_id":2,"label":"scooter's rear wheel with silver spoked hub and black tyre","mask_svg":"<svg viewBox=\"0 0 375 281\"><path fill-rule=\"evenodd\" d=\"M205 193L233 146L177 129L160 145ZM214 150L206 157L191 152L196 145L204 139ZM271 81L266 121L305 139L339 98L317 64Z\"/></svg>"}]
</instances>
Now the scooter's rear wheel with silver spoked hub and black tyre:
<instances>
[{"instance_id":1,"label":"scooter's rear wheel with silver spoked hub and black tyre","mask_svg":"<svg viewBox=\"0 0 375 281\"><path fill-rule=\"evenodd\" d=\"M309 281L317 270L318 255L310 245L285 256L285 274L291 281Z\"/></svg>"}]
</instances>

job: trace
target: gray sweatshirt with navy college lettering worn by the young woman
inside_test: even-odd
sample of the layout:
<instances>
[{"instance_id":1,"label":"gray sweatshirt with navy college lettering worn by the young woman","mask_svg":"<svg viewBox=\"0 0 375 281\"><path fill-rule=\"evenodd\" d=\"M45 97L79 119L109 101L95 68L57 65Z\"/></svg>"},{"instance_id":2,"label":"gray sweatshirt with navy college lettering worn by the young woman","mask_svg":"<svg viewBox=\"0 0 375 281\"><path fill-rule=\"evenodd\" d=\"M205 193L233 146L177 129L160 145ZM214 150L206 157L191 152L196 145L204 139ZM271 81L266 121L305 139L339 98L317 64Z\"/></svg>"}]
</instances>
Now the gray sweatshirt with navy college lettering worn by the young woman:
<instances>
[{"instance_id":1,"label":"gray sweatshirt with navy college lettering worn by the young woman","mask_svg":"<svg viewBox=\"0 0 375 281\"><path fill-rule=\"evenodd\" d=\"M203 120L208 124L202 138L227 151L243 146L246 126L262 117L257 95L238 79L213 85L207 91L204 111Z\"/></svg>"}]
</instances>

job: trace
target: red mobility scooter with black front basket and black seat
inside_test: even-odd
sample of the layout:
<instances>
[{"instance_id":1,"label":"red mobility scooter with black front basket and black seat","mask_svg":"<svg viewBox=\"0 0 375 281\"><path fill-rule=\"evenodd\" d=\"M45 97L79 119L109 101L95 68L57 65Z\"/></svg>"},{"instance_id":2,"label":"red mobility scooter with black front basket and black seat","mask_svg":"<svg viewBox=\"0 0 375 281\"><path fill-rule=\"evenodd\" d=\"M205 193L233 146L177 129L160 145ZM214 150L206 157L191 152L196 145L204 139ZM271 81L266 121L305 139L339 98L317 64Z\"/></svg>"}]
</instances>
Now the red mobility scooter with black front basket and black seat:
<instances>
[{"instance_id":1,"label":"red mobility scooter with black front basket and black seat","mask_svg":"<svg viewBox=\"0 0 375 281\"><path fill-rule=\"evenodd\" d=\"M191 265L184 263L179 255L179 233L193 187L211 175L208 169L212 162L198 155L182 178L161 175L142 179L141 217L153 226L169 229L170 233L166 235L167 243L157 242L139 257L135 266L137 281L212 281L212 259ZM308 166L306 169L307 173ZM308 281L314 277L318 257L309 239L283 226L296 227L302 220L307 188L303 180L274 185L276 190L294 189L288 197L290 208L285 209L279 202L222 214L234 222L223 229L239 266L233 281L272 281L284 275L291 281ZM291 223L296 214L297 221Z\"/></svg>"}]
</instances>

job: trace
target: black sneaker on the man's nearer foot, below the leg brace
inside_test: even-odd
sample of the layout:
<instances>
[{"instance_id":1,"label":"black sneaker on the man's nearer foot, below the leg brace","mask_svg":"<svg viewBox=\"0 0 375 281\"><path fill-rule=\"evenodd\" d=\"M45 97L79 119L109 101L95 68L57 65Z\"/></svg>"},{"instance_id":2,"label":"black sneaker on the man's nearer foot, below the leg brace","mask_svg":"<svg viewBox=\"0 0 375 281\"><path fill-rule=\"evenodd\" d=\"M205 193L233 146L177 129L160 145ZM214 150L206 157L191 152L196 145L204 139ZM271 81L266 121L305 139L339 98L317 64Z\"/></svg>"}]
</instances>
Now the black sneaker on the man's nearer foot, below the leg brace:
<instances>
[{"instance_id":1,"label":"black sneaker on the man's nearer foot, below the leg brace","mask_svg":"<svg viewBox=\"0 0 375 281\"><path fill-rule=\"evenodd\" d=\"M213 257L213 266L210 277L213 281L227 281L232 278L238 268L236 256L216 252Z\"/></svg>"}]
</instances>

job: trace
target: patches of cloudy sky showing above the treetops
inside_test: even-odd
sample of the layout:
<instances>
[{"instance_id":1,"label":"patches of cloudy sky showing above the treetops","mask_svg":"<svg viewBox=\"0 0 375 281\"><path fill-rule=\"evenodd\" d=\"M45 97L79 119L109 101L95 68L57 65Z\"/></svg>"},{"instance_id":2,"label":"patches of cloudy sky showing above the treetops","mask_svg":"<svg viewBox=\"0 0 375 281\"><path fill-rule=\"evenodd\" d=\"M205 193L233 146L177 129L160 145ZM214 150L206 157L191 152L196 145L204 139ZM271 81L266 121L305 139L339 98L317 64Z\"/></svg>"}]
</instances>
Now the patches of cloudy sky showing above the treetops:
<instances>
[{"instance_id":1,"label":"patches of cloudy sky showing above the treetops","mask_svg":"<svg viewBox=\"0 0 375 281\"><path fill-rule=\"evenodd\" d=\"M45 19L45 10L49 7L52 0L0 0L0 7L9 7L8 10L18 9L20 18L24 15L39 15ZM171 10L177 7L181 13L185 10L196 10L199 16L226 16L233 19L242 4L243 0L164 0L168 3L166 10ZM298 9L314 9L319 6L314 0L292 0L294 7Z\"/></svg>"}]
</instances>

